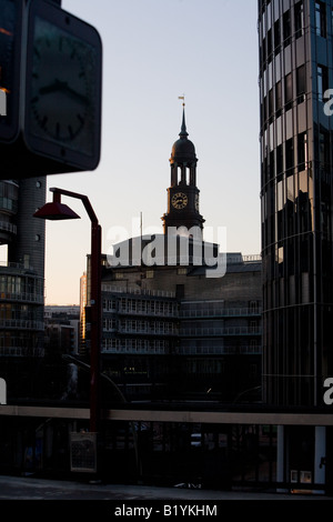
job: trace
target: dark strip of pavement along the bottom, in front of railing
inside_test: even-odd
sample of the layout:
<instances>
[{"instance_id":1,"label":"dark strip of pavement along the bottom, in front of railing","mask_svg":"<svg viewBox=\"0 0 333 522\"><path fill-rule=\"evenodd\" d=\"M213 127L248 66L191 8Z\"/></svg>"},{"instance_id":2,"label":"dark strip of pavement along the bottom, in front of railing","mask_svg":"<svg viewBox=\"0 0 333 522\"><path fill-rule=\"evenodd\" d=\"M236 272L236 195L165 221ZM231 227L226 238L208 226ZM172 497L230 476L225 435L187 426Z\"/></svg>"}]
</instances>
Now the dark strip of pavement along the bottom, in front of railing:
<instances>
[{"instance_id":1,"label":"dark strip of pavement along the bottom, in front of railing","mask_svg":"<svg viewBox=\"0 0 333 522\"><path fill-rule=\"evenodd\" d=\"M100 500L118 504L133 502L168 501L195 503L209 501L270 500L270 501L323 501L333 500L320 494L290 494L258 491L211 491L201 489L159 488L152 485L105 484L82 481L46 480L34 476L0 475L0 502L9 500ZM307 502L306 502L307 504Z\"/></svg>"}]
</instances>

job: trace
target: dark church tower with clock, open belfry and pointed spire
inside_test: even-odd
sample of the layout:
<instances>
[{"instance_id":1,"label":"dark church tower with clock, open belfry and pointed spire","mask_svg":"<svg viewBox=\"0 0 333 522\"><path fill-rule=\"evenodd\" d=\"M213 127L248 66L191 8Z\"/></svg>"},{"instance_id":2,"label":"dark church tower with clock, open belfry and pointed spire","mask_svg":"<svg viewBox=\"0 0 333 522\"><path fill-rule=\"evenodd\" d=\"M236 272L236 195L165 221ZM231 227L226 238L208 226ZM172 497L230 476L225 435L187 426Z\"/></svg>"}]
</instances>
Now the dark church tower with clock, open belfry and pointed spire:
<instances>
[{"instance_id":1,"label":"dark church tower with clock, open belfry and pointed spire","mask_svg":"<svg viewBox=\"0 0 333 522\"><path fill-rule=\"evenodd\" d=\"M170 227L183 227L190 231L193 228L202 235L204 219L199 212L199 193L196 187L195 148L188 139L185 110L179 140L173 143L170 165L171 184L168 189L168 212L162 217L164 234ZM194 229L194 230L195 230Z\"/></svg>"}]
</instances>

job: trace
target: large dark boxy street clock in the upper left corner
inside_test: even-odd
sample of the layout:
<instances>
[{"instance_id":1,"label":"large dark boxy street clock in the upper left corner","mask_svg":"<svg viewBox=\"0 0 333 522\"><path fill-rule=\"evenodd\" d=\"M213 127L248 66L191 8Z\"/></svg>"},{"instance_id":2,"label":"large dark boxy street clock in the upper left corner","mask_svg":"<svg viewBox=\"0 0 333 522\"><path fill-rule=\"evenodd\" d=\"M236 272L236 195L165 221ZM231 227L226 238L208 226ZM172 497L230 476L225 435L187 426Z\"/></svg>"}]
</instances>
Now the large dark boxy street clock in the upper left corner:
<instances>
[{"instance_id":1,"label":"large dark boxy street clock in the upper left corner","mask_svg":"<svg viewBox=\"0 0 333 522\"><path fill-rule=\"evenodd\" d=\"M94 170L101 141L100 36L47 0L29 0L23 20L19 132L11 145L0 135L0 179L13 178L13 170L14 178Z\"/></svg>"}]
</instances>

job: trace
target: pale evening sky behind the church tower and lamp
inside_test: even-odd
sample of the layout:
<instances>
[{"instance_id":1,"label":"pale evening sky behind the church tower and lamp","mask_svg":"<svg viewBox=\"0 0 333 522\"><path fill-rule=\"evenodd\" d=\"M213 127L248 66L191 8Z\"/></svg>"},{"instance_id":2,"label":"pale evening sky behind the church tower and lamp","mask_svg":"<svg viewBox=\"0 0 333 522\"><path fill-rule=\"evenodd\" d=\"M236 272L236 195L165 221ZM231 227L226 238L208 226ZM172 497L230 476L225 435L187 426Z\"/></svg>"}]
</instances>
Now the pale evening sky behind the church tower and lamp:
<instances>
[{"instance_id":1,"label":"pale evening sky behind the church tower and lamp","mask_svg":"<svg viewBox=\"0 0 333 522\"><path fill-rule=\"evenodd\" d=\"M121 227L133 235L141 213L143 232L150 227L162 232L183 94L205 225L226 228L229 252L260 253L256 6L256 0L62 0L63 9L94 26L102 39L102 153L93 172L50 175L48 188L89 197L104 253L112 231ZM47 304L79 303L90 252L84 208L73 199L63 202L81 220L47 221Z\"/></svg>"}]
</instances>

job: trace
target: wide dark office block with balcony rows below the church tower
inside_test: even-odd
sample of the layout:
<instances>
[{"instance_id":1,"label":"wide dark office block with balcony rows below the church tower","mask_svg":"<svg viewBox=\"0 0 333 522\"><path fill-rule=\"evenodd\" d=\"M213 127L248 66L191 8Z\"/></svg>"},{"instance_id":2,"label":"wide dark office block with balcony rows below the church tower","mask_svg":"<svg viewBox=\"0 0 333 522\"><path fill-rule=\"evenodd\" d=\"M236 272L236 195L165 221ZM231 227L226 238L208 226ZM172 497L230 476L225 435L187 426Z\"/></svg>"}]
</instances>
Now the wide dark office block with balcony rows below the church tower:
<instances>
[{"instance_id":1,"label":"wide dark office block with balcony rows below the church tower","mask_svg":"<svg viewBox=\"0 0 333 522\"><path fill-rule=\"evenodd\" d=\"M238 260L105 269L102 368L129 400L260 400L261 261Z\"/></svg>"}]
</instances>

